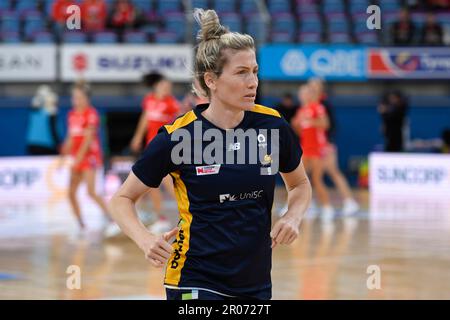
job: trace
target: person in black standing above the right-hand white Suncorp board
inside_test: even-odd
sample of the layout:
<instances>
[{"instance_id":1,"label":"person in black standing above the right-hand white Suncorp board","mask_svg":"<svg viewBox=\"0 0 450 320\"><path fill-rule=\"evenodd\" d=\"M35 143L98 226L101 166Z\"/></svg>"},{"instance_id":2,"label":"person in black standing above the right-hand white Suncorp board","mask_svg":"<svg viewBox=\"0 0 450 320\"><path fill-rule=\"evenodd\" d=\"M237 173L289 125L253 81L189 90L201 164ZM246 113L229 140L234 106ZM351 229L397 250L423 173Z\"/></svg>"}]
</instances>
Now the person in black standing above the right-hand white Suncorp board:
<instances>
[{"instance_id":1,"label":"person in black standing above the right-hand white Suncorp board","mask_svg":"<svg viewBox=\"0 0 450 320\"><path fill-rule=\"evenodd\" d=\"M403 129L408 102L400 91L386 93L378 106L383 121L384 150L387 152L403 151Z\"/></svg>"}]
</instances>

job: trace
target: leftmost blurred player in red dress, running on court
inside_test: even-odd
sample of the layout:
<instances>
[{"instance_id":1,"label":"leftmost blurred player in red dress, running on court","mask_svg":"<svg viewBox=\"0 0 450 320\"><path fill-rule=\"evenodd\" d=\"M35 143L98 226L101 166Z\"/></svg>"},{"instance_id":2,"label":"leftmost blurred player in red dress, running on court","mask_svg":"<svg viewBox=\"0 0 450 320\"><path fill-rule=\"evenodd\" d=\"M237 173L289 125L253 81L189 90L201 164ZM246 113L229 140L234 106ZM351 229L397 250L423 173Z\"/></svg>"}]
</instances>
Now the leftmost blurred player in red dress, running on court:
<instances>
[{"instance_id":1,"label":"leftmost blurred player in red dress, running on court","mask_svg":"<svg viewBox=\"0 0 450 320\"><path fill-rule=\"evenodd\" d=\"M62 155L70 155L71 171L69 200L81 229L85 223L77 200L77 190L84 180L89 196L100 206L107 219L108 209L102 197L95 191L96 170L102 165L98 129L99 116L88 97L88 86L79 82L72 89L72 107L68 116L68 134L62 147Z\"/></svg>"}]
</instances>

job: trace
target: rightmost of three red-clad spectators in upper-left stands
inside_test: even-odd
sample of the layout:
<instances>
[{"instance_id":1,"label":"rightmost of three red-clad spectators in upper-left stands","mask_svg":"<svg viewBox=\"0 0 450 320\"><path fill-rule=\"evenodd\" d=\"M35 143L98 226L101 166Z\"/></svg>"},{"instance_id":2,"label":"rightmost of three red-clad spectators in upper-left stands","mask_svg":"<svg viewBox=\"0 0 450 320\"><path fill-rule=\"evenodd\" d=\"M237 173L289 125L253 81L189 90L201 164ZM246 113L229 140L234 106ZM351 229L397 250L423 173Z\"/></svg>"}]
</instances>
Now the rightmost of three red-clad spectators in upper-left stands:
<instances>
[{"instance_id":1,"label":"rightmost of three red-clad spectators in upper-left stands","mask_svg":"<svg viewBox=\"0 0 450 320\"><path fill-rule=\"evenodd\" d=\"M111 29L122 38L123 32L135 27L136 9L130 0L116 0L108 17Z\"/></svg>"}]
</instances>

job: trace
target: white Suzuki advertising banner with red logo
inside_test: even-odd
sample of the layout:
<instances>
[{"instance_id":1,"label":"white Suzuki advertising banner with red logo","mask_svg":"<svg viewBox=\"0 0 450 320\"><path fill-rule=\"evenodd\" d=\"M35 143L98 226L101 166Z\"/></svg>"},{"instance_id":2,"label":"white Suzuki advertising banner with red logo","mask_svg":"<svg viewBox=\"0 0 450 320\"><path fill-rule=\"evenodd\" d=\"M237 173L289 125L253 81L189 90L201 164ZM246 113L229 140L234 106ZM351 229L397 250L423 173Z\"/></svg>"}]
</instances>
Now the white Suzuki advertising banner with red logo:
<instances>
[{"instance_id":1,"label":"white Suzuki advertising banner with red logo","mask_svg":"<svg viewBox=\"0 0 450 320\"><path fill-rule=\"evenodd\" d=\"M172 81L190 81L193 49L190 45L64 45L62 81L139 82L157 71Z\"/></svg>"}]
</instances>

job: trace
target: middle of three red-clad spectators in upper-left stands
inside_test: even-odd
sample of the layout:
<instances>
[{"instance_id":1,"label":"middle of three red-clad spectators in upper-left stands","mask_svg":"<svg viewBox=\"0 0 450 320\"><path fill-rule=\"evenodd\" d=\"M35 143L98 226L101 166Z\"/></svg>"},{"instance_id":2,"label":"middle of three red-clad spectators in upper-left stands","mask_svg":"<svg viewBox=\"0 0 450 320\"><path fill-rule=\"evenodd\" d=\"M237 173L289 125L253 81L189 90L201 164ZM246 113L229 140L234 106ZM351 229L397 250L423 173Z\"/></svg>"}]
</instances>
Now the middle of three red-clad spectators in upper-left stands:
<instances>
[{"instance_id":1,"label":"middle of three red-clad spectators in upper-left stands","mask_svg":"<svg viewBox=\"0 0 450 320\"><path fill-rule=\"evenodd\" d=\"M107 15L105 0L83 0L81 3L81 26L86 32L103 31Z\"/></svg>"}]
</instances>

